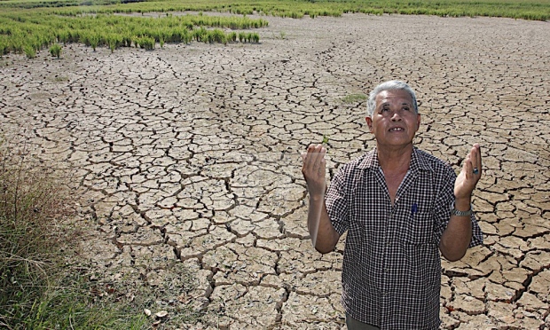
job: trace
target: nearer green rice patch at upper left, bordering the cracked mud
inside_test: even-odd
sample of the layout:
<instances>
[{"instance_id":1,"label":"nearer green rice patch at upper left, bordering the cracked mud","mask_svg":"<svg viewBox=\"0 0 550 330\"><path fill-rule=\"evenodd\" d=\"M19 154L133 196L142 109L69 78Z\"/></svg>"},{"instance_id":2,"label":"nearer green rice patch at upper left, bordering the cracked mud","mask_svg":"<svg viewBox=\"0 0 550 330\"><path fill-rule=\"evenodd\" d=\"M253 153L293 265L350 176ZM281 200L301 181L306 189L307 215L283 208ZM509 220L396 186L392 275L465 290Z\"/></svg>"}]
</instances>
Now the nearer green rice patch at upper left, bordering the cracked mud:
<instances>
[{"instance_id":1,"label":"nearer green rice patch at upper left, bordering the cracked mud","mask_svg":"<svg viewBox=\"0 0 550 330\"><path fill-rule=\"evenodd\" d=\"M10 52L34 58L36 51L53 43L84 43L95 51L107 46L154 49L156 43L259 43L257 33L224 32L221 28L247 29L267 26L266 20L247 17L211 17L202 15L161 18L120 15L59 16L36 15L36 11L19 11L0 16L0 56ZM214 27L208 29L206 27ZM52 56L59 57L56 46Z\"/></svg>"}]
</instances>

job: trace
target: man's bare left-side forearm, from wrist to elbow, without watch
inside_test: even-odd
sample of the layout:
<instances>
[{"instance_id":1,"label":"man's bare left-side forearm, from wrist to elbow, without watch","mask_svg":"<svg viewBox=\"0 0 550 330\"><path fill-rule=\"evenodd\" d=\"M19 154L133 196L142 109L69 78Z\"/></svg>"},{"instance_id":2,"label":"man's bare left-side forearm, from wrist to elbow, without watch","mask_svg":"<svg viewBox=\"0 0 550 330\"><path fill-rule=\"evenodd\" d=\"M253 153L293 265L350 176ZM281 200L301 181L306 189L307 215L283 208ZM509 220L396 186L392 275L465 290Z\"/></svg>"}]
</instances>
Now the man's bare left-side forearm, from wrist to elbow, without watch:
<instances>
[{"instance_id":1,"label":"man's bare left-side forearm, from wrist to elbow, without watch","mask_svg":"<svg viewBox=\"0 0 550 330\"><path fill-rule=\"evenodd\" d=\"M325 254L334 250L340 235L330 222L323 195L310 196L308 230L313 246L318 252Z\"/></svg>"}]
</instances>

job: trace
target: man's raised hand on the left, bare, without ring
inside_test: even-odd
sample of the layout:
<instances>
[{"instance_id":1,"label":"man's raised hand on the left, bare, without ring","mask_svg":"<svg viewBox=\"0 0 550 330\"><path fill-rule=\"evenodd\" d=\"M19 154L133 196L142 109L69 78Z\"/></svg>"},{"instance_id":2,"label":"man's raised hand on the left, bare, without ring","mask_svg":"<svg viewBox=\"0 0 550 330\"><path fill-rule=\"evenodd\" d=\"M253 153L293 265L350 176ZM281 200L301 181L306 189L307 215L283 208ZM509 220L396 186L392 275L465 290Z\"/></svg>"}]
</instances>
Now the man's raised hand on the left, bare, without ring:
<instances>
[{"instance_id":1,"label":"man's raised hand on the left, bare, without ring","mask_svg":"<svg viewBox=\"0 0 550 330\"><path fill-rule=\"evenodd\" d=\"M310 198L325 196L325 154L326 149L323 145L310 145L307 151L302 153L302 174L308 185Z\"/></svg>"}]
</instances>

